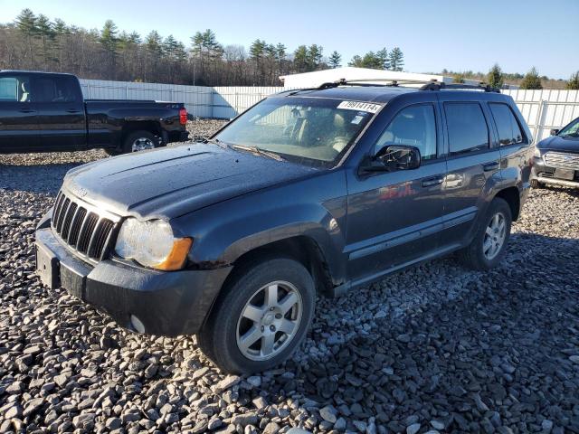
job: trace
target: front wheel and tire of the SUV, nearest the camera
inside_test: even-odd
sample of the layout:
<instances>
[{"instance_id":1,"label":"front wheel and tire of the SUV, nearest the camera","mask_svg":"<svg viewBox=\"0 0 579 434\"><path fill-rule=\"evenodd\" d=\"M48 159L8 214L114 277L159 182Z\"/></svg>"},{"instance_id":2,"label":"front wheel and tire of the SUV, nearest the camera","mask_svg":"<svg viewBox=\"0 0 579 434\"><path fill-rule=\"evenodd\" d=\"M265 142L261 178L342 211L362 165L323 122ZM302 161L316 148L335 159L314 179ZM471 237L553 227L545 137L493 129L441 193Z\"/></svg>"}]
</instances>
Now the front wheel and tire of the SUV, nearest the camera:
<instances>
[{"instance_id":1,"label":"front wheel and tire of the SUV, nearest the camera","mask_svg":"<svg viewBox=\"0 0 579 434\"><path fill-rule=\"evenodd\" d=\"M287 360L305 338L316 304L314 281L286 258L252 261L233 273L197 344L223 372L265 371Z\"/></svg>"}]
</instances>

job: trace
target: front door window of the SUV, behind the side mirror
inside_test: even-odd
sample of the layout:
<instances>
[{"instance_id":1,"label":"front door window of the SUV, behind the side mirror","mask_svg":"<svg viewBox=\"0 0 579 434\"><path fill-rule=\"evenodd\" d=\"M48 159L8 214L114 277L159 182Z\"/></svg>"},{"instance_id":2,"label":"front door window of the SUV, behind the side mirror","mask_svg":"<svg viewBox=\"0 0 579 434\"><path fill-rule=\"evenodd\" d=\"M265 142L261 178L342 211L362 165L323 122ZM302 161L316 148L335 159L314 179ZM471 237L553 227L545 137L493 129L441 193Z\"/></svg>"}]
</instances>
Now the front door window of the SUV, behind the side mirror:
<instances>
[{"instance_id":1,"label":"front door window of the SUV, behind the side mirror","mask_svg":"<svg viewBox=\"0 0 579 434\"><path fill-rule=\"evenodd\" d=\"M402 109L378 138L375 153L390 145L416 146L422 160L436 158L436 117L432 104Z\"/></svg>"}]
</instances>

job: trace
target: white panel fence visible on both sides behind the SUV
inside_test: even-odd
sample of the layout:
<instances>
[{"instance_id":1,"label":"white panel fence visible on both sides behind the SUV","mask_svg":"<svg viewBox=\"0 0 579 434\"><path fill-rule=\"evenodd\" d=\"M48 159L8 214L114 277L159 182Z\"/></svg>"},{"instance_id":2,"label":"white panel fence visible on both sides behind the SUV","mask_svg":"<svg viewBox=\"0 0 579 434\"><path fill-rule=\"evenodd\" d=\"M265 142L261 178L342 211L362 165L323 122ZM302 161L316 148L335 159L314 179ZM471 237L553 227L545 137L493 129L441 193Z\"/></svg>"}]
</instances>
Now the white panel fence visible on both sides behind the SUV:
<instances>
[{"instance_id":1,"label":"white panel fence visible on both sides behind the SUV","mask_svg":"<svg viewBox=\"0 0 579 434\"><path fill-rule=\"evenodd\" d=\"M185 103L198 118L233 118L282 87L207 87L129 81L81 80L87 99L156 99ZM579 117L579 90L503 90L515 99L537 141Z\"/></svg>"}]
</instances>

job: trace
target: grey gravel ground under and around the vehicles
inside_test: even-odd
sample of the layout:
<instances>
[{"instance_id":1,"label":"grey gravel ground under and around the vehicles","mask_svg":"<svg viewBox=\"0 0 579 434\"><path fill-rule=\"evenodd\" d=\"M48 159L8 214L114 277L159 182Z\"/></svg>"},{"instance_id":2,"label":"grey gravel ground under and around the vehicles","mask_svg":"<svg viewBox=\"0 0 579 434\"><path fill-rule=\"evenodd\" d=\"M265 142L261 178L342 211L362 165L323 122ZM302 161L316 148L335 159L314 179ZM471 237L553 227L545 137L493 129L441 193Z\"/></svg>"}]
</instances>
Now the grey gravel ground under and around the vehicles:
<instances>
[{"instance_id":1,"label":"grey gravel ground under and around the vehicles","mask_svg":"<svg viewBox=\"0 0 579 434\"><path fill-rule=\"evenodd\" d=\"M291 361L237 377L35 277L35 223L101 157L0 156L0 432L579 433L579 191L533 191L498 269L439 259L320 298Z\"/></svg>"}]
</instances>

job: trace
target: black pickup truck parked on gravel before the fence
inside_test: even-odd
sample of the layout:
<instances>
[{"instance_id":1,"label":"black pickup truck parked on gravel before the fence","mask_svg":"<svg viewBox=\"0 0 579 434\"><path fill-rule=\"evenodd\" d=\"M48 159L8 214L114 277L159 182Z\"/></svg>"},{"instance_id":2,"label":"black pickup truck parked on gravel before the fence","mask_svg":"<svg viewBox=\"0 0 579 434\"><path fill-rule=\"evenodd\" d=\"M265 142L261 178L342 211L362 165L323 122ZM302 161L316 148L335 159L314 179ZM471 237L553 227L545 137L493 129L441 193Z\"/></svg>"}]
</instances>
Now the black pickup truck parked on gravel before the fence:
<instances>
[{"instance_id":1,"label":"black pickup truck parked on gravel before the fence","mask_svg":"<svg viewBox=\"0 0 579 434\"><path fill-rule=\"evenodd\" d=\"M185 141L186 121L182 103L83 99L74 75L0 71L0 154L135 152Z\"/></svg>"}]
</instances>

